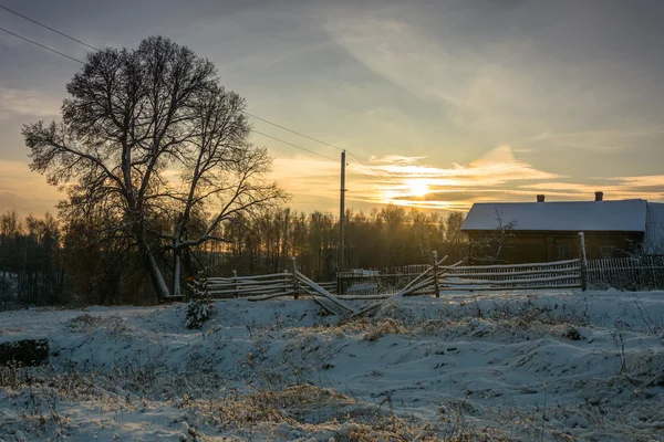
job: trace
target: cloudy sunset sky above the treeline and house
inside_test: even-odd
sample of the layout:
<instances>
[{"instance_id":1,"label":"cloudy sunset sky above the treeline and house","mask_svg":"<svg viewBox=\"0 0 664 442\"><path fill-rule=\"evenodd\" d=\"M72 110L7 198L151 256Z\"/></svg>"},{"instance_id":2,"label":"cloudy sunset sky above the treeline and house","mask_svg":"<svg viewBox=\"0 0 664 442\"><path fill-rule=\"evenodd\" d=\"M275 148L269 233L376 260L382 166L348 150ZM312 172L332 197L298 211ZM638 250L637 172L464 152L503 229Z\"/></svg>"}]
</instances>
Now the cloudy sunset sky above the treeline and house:
<instances>
[{"instance_id":1,"label":"cloudy sunset sky above the treeline and house","mask_svg":"<svg viewBox=\"0 0 664 442\"><path fill-rule=\"evenodd\" d=\"M212 61L259 119L297 210L664 200L664 2L74 1L0 4L95 48L162 34ZM0 9L0 27L87 49ZM0 31L0 211L54 212L20 130L59 118L81 65ZM360 159L357 159L360 158Z\"/></svg>"}]
</instances>

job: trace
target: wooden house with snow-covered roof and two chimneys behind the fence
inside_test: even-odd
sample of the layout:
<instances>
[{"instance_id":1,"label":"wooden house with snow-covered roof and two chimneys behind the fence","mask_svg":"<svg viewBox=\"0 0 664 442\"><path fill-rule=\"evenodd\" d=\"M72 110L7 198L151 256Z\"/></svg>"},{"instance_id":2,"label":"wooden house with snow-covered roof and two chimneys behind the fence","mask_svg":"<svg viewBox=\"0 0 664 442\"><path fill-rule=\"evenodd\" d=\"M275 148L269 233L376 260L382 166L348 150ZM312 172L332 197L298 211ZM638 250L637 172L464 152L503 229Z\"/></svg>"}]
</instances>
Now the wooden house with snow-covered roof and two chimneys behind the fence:
<instances>
[{"instance_id":1,"label":"wooden house with snow-covered roof and two chimneys behind the fence","mask_svg":"<svg viewBox=\"0 0 664 442\"><path fill-rule=\"evenodd\" d=\"M589 260L626 256L644 244L647 202L604 201L475 203L461 231L474 262L551 262L580 256L579 232ZM491 256L488 256L492 254Z\"/></svg>"}]
</instances>

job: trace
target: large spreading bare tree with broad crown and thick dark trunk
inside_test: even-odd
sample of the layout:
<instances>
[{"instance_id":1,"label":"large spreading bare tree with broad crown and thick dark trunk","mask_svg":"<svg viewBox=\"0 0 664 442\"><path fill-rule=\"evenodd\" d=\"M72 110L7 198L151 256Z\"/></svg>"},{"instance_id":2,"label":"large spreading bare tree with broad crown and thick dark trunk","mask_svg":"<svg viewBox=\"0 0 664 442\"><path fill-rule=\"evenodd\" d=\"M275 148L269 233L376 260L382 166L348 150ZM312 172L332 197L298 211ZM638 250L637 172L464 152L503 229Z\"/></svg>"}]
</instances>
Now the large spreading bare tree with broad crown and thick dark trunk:
<instances>
[{"instance_id":1,"label":"large spreading bare tree with broad crown and thick dark trunk","mask_svg":"<svg viewBox=\"0 0 664 442\"><path fill-rule=\"evenodd\" d=\"M23 128L31 168L66 190L63 219L103 211L103 233L131 239L159 298L170 295L157 262L162 241L179 256L212 239L222 220L283 198L261 180L270 161L248 143L243 101L189 49L152 36L137 50L98 51L66 87L62 123ZM191 240L195 210L212 215ZM166 232L164 220L173 223Z\"/></svg>"}]
</instances>

